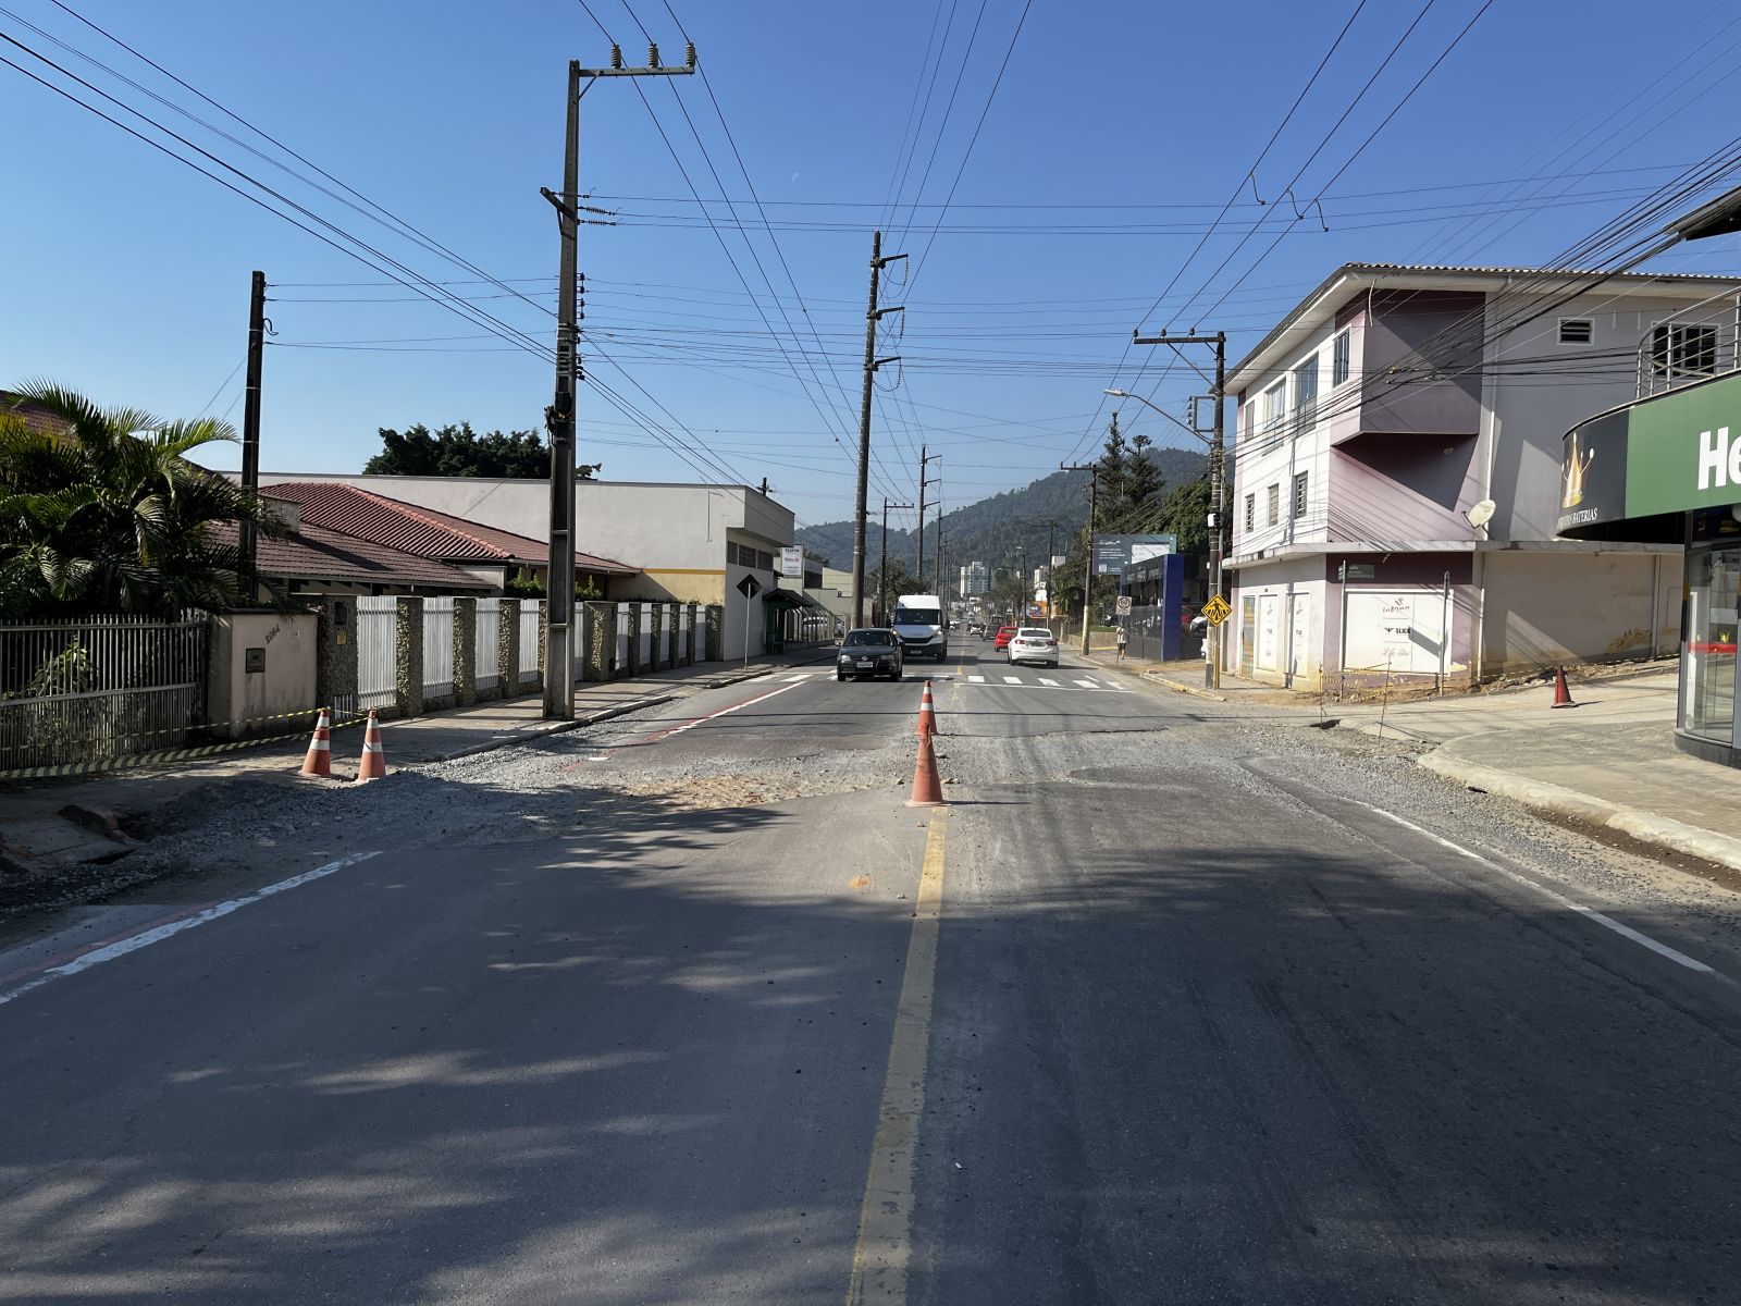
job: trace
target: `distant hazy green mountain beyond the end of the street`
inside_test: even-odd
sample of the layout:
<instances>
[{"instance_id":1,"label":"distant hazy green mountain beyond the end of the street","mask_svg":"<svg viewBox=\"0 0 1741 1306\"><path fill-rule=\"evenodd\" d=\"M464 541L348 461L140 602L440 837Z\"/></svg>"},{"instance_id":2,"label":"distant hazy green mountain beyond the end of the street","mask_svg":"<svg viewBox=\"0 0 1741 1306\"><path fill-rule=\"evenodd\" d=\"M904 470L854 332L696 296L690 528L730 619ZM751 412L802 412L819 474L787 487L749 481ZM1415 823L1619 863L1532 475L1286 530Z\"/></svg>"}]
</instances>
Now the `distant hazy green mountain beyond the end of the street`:
<instances>
[{"instance_id":1,"label":"distant hazy green mountain beyond the end of the street","mask_svg":"<svg viewBox=\"0 0 1741 1306\"><path fill-rule=\"evenodd\" d=\"M1203 475L1208 458L1189 449L1151 449L1149 460L1160 468L1168 486ZM881 557L881 514L872 514L865 526L867 566L876 568ZM1055 521L1057 531L1046 526ZM1053 472L1022 489L982 498L963 508L944 514L944 566L954 573L965 562L984 562L989 568L1020 566L1025 552L1031 568L1046 561L1048 542L1065 552L1067 542L1088 519L1088 474ZM937 559L935 519L924 528L924 564L931 569ZM829 559L830 566L851 568L853 524L850 521L806 526L797 531L797 543ZM914 562L914 533L890 529L888 552L909 568Z\"/></svg>"}]
</instances>

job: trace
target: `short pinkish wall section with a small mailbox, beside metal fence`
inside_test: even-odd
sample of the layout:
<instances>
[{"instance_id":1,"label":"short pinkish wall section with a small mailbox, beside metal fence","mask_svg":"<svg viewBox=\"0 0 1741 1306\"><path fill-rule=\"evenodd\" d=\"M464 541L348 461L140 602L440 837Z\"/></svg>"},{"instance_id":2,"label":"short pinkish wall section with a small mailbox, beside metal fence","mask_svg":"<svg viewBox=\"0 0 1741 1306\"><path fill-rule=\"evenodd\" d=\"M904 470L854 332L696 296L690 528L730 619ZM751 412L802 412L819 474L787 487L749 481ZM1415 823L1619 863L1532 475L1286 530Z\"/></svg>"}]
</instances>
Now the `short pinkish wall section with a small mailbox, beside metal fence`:
<instances>
[{"instance_id":1,"label":"short pinkish wall section with a small mailbox, beside metal fence","mask_svg":"<svg viewBox=\"0 0 1741 1306\"><path fill-rule=\"evenodd\" d=\"M319 707L319 644L315 613L244 611L214 616L211 676L205 684L211 733L225 738L289 733L292 723L273 717ZM259 651L259 670L247 670L249 650Z\"/></svg>"}]
</instances>

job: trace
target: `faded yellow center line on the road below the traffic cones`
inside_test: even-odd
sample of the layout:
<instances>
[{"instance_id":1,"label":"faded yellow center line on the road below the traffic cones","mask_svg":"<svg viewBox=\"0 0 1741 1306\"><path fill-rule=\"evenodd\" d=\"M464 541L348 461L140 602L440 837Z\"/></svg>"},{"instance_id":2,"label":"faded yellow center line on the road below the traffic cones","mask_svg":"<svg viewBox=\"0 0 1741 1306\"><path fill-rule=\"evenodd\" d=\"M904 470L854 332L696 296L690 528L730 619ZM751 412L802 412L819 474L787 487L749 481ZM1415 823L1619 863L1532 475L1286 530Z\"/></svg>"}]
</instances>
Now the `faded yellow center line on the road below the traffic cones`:
<instances>
[{"instance_id":1,"label":"faded yellow center line on the road below the traffic cones","mask_svg":"<svg viewBox=\"0 0 1741 1306\"><path fill-rule=\"evenodd\" d=\"M895 1034L883 1076L876 1139L865 1200L858 1210L858 1243L846 1306L907 1301L907 1262L912 1256L912 1163L924 1111L924 1060L931 1043L931 996L937 980L937 933L944 916L944 827L947 811L931 813L924 838L919 902L912 914L907 972L900 980Z\"/></svg>"}]
</instances>

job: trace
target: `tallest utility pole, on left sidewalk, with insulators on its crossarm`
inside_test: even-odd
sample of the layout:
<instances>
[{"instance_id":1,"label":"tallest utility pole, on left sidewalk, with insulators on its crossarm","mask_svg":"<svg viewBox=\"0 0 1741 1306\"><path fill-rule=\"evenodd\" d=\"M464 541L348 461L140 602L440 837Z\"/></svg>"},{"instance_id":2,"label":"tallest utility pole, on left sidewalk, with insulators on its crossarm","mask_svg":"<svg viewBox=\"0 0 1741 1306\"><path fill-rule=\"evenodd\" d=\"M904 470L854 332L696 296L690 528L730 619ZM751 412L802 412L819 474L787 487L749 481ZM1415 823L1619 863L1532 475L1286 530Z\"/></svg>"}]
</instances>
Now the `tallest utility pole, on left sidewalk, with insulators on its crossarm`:
<instances>
[{"instance_id":1,"label":"tallest utility pole, on left sidewalk, with insulators on its crossarm","mask_svg":"<svg viewBox=\"0 0 1741 1306\"><path fill-rule=\"evenodd\" d=\"M543 714L569 721L575 716L575 383L580 369L578 249L580 230L580 98L601 77L686 77L695 71L695 45L684 49L681 68L665 68L658 45L648 45L646 68L623 68L623 50L611 47L609 68L568 63L566 132L562 139L562 193L541 186L540 193L557 212L561 259L557 265L555 395L545 409L550 432L550 568L545 582L545 705Z\"/></svg>"}]
</instances>

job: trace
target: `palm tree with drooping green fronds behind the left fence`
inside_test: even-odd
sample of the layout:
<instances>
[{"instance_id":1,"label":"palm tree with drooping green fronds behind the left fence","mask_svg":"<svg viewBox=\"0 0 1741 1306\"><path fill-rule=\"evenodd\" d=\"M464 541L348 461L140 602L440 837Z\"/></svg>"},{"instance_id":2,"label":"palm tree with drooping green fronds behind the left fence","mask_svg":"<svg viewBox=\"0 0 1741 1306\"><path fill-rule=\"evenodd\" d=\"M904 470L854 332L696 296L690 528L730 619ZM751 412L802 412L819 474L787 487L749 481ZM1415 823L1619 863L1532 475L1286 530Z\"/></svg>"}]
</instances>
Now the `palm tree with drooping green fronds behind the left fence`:
<instances>
[{"instance_id":1,"label":"palm tree with drooping green fronds behind the left fence","mask_svg":"<svg viewBox=\"0 0 1741 1306\"><path fill-rule=\"evenodd\" d=\"M0 616L172 618L245 601L237 522L284 528L258 495L188 461L233 442L228 423L104 409L45 381L14 395L0 401Z\"/></svg>"}]
</instances>

